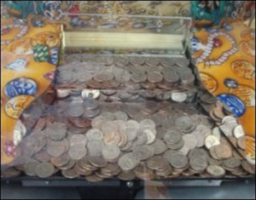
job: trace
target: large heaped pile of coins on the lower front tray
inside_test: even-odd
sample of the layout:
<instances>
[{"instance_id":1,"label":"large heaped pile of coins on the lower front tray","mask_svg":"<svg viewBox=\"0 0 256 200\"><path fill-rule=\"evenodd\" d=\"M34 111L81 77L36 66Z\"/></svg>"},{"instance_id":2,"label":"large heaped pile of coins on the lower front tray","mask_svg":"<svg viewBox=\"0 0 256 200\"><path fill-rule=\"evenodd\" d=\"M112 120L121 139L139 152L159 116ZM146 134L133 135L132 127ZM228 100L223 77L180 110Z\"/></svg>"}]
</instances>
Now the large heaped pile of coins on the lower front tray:
<instances>
[{"instance_id":1,"label":"large heaped pile of coins on the lower front tray","mask_svg":"<svg viewBox=\"0 0 256 200\"><path fill-rule=\"evenodd\" d=\"M41 111L32 133L18 146L22 164L3 171L3 176L20 175L22 170L47 178L61 171L68 179L84 177L97 182L114 176L158 180L255 173L244 159L245 136L234 117L224 116L218 125L214 118L200 114L195 104L99 103L74 94L72 98L83 105L83 114L68 112L73 101L63 105L55 101L50 107L57 109L55 116L42 106L48 113ZM84 111L90 108L100 114L87 117ZM233 127L233 132L225 132L222 126Z\"/></svg>"}]
</instances>

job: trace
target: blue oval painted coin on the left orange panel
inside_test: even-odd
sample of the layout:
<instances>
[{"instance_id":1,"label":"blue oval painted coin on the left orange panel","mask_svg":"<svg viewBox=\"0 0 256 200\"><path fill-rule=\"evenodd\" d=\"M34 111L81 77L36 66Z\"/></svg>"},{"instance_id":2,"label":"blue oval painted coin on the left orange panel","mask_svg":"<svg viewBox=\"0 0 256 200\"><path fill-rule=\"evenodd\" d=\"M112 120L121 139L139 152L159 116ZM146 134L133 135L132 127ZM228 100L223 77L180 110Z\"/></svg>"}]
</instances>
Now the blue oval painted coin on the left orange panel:
<instances>
[{"instance_id":1,"label":"blue oval painted coin on the left orange panel","mask_svg":"<svg viewBox=\"0 0 256 200\"><path fill-rule=\"evenodd\" d=\"M18 77L6 84L3 91L9 98L14 98L18 95L33 95L36 94L38 85L31 78Z\"/></svg>"}]
</instances>

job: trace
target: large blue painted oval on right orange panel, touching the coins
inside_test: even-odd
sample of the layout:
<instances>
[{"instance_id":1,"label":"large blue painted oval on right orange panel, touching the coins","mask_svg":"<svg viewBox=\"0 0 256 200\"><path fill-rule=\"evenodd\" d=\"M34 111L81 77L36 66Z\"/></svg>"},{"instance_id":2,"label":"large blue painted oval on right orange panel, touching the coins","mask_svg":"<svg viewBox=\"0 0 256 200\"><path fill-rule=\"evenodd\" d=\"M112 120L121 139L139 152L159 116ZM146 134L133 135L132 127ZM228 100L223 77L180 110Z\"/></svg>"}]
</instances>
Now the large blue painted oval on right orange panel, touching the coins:
<instances>
[{"instance_id":1,"label":"large blue painted oval on right orange panel, touching the coins","mask_svg":"<svg viewBox=\"0 0 256 200\"><path fill-rule=\"evenodd\" d=\"M240 117L246 111L246 106L243 102L233 94L219 94L217 98L230 108L235 117Z\"/></svg>"}]
</instances>

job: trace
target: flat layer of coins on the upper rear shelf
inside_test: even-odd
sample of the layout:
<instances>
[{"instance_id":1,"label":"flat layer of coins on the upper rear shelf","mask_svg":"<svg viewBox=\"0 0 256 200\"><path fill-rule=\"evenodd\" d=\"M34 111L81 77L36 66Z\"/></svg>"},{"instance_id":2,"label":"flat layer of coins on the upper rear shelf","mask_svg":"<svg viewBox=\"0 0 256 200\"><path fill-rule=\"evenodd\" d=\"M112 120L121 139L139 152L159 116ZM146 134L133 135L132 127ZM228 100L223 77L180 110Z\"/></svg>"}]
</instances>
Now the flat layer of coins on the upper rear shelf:
<instances>
[{"instance_id":1,"label":"flat layer of coins on the upper rear shelf","mask_svg":"<svg viewBox=\"0 0 256 200\"><path fill-rule=\"evenodd\" d=\"M172 89L191 85L195 75L185 57L148 58L143 56L88 57L58 67L56 83L61 88L90 89Z\"/></svg>"}]
</instances>

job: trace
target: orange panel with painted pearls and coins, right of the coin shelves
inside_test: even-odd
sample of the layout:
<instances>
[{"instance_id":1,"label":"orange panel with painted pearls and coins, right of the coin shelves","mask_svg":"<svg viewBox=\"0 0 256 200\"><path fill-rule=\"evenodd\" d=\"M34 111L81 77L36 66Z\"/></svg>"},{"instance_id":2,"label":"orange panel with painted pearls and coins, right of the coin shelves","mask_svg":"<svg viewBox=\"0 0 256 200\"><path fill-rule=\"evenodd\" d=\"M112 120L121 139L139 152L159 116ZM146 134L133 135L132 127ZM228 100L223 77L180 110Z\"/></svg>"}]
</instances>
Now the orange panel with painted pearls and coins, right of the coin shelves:
<instances>
[{"instance_id":1,"label":"orange panel with painted pearls and coins, right of the coin shelves","mask_svg":"<svg viewBox=\"0 0 256 200\"><path fill-rule=\"evenodd\" d=\"M255 35L242 23L229 26L195 32L192 48L202 83L238 117L247 134L247 159L255 163Z\"/></svg>"}]
</instances>

